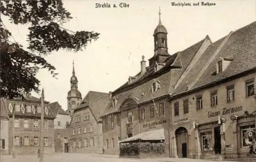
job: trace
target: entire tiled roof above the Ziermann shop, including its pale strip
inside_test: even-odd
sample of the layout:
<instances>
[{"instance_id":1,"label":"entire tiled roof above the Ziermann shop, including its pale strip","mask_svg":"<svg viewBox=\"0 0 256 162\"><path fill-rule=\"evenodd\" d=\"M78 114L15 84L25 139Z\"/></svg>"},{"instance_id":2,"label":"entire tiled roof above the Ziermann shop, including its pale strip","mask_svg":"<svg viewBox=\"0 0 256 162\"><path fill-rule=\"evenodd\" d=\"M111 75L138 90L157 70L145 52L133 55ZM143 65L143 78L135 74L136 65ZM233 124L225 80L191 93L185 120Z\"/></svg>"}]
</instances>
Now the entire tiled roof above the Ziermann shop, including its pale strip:
<instances>
[{"instance_id":1,"label":"entire tiled roof above the Ziermann shop, including its pale strip","mask_svg":"<svg viewBox=\"0 0 256 162\"><path fill-rule=\"evenodd\" d=\"M219 49L218 49L219 48ZM218 49L218 50L217 50ZM226 78L256 69L256 21L212 43L177 87L172 98L200 87L221 82ZM209 60L215 53L216 56ZM230 61L227 68L216 74L217 62ZM206 64L207 61L209 64ZM256 70L255 70L256 72Z\"/></svg>"}]
</instances>

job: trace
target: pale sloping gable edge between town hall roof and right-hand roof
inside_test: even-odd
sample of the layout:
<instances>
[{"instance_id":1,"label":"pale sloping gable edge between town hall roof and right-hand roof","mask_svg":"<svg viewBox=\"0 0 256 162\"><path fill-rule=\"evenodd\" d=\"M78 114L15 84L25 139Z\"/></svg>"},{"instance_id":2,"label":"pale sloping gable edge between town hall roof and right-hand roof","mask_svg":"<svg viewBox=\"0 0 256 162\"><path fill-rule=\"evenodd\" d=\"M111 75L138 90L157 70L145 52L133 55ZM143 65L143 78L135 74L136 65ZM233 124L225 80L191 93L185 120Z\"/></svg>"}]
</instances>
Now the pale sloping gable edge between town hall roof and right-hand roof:
<instances>
[{"instance_id":1,"label":"pale sloping gable edge between town hall roof and right-hand roof","mask_svg":"<svg viewBox=\"0 0 256 162\"><path fill-rule=\"evenodd\" d=\"M197 56L197 53L199 51L199 49L203 46L203 44L206 42L206 40L209 39L210 43L211 40L209 38L209 36L207 35L202 41L201 45L198 47L197 51L195 52L195 55L193 56L193 58L190 60L190 62L188 63L186 69L184 70L184 72L182 73L182 75L179 77L177 83L175 84L174 86L174 89L176 89L180 83L182 82L182 80L185 78L185 76L188 74L188 72L194 67L194 65L197 63L197 61L201 58L201 56L203 55L203 53L205 52L205 50L208 48L208 46L201 52L201 55L199 55L198 57ZM199 42L201 42L199 41ZM193 62L194 61L194 62Z\"/></svg>"}]
</instances>

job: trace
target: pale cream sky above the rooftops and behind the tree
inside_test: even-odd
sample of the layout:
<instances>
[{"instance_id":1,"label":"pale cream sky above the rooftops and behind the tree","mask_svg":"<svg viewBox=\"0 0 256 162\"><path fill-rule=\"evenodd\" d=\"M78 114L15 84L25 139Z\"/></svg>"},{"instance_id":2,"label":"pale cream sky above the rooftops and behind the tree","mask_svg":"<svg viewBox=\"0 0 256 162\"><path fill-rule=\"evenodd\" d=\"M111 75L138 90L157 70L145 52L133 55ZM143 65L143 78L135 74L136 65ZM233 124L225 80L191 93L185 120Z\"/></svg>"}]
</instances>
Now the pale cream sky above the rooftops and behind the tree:
<instances>
[{"instance_id":1,"label":"pale cream sky above the rooftops and behind the tree","mask_svg":"<svg viewBox=\"0 0 256 162\"><path fill-rule=\"evenodd\" d=\"M127 82L129 76L140 71L142 55L145 60L154 55L153 32L159 21L167 29L168 52L177 51L201 41L208 35L212 42L236 31L256 20L255 0L215 1L103 1L62 0L73 19L63 24L71 31L95 31L99 39L88 44L83 51L59 50L52 52L46 60L56 67L58 79L47 70L37 77L40 89L44 88L45 100L58 101L67 110L67 94L70 90L72 61L78 78L78 90L82 98L89 91L109 93ZM120 8L124 2L129 7ZM172 6L172 2L190 3L192 6ZM215 6L193 6L193 3L209 2ZM111 8L96 8L96 3L110 4ZM113 8L113 4L118 7ZM5 26L18 43L28 45L28 26L14 25L3 17ZM148 62L146 63L148 66ZM40 97L32 93L35 97Z\"/></svg>"}]
</instances>

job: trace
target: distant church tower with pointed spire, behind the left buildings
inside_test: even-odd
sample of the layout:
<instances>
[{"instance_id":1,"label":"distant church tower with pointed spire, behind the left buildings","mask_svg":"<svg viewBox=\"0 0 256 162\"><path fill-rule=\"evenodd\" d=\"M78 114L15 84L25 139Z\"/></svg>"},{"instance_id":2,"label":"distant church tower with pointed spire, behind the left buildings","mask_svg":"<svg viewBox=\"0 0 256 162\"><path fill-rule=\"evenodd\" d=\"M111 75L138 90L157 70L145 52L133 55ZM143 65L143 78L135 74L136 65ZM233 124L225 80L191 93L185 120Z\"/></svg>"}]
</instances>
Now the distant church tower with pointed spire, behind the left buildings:
<instances>
[{"instance_id":1,"label":"distant church tower with pointed spire, behind the left buildings","mask_svg":"<svg viewBox=\"0 0 256 162\"><path fill-rule=\"evenodd\" d=\"M73 72L70 78L71 90L68 92L68 113L70 116L73 115L74 109L80 104L82 96L77 88L77 77L75 75L74 61L73 61Z\"/></svg>"}]
</instances>

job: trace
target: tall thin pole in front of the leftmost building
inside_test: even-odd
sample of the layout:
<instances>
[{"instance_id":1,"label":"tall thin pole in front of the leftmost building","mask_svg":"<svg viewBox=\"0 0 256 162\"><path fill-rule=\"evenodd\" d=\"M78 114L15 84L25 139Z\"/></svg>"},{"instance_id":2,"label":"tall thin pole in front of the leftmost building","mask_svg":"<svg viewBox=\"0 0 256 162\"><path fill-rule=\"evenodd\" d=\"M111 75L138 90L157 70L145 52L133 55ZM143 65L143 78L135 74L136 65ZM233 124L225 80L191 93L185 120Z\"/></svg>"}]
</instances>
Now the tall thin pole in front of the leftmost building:
<instances>
[{"instance_id":1,"label":"tall thin pole in front of the leftmost building","mask_svg":"<svg viewBox=\"0 0 256 162\"><path fill-rule=\"evenodd\" d=\"M41 130L41 136L40 136L40 160L39 162L44 161L44 111L45 111L45 105L44 105L44 88L42 88L42 94L41 94L41 125L40 125L40 130Z\"/></svg>"}]
</instances>

